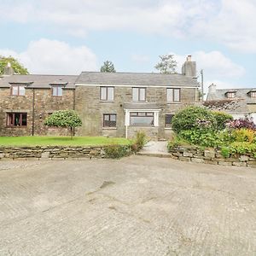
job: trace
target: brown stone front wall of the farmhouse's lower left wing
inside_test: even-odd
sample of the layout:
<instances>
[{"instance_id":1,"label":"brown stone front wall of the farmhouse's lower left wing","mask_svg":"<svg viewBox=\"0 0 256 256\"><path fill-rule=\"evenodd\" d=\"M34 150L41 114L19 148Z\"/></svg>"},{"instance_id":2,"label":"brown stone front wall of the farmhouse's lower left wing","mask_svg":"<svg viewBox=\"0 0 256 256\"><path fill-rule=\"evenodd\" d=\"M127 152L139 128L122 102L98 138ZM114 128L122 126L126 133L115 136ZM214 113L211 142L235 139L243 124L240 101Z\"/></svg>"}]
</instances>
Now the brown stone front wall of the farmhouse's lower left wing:
<instances>
[{"instance_id":1,"label":"brown stone front wall of the farmhouse's lower left wing","mask_svg":"<svg viewBox=\"0 0 256 256\"><path fill-rule=\"evenodd\" d=\"M62 97L52 96L50 89L34 90L34 135L67 135L67 129L46 127L44 119L56 110L73 109L73 90L63 90ZM0 88L0 99L0 136L31 136L33 90L26 89L25 96L11 96L10 88ZM8 127L8 112L27 113L27 125Z\"/></svg>"}]
</instances>

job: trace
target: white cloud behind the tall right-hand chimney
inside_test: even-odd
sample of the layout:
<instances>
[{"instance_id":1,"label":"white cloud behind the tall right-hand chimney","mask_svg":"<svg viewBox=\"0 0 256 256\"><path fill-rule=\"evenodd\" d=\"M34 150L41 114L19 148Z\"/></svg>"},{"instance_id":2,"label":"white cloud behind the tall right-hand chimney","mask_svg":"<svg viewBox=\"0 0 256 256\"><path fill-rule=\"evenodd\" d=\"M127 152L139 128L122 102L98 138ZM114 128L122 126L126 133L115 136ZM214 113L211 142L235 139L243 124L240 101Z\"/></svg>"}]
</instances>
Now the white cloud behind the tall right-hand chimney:
<instances>
[{"instance_id":1,"label":"white cloud behind the tall right-hand chimney","mask_svg":"<svg viewBox=\"0 0 256 256\"><path fill-rule=\"evenodd\" d=\"M174 54L175 55L175 54ZM191 53L192 61L196 61L197 71L204 70L207 79L240 78L245 74L245 68L231 61L220 51L195 51ZM185 60L183 55L175 55L179 71Z\"/></svg>"}]
</instances>

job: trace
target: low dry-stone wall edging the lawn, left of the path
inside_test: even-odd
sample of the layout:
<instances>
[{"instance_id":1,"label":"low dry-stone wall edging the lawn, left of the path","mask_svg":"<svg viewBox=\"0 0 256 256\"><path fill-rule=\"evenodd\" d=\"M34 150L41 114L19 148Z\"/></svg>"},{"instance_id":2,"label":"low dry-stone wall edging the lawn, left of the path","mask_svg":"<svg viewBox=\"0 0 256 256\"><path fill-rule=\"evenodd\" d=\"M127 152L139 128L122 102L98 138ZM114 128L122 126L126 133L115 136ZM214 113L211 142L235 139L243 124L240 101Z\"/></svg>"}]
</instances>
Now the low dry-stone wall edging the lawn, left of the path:
<instances>
[{"instance_id":1,"label":"low dry-stone wall edging the lawn, left of the path","mask_svg":"<svg viewBox=\"0 0 256 256\"><path fill-rule=\"evenodd\" d=\"M38 146L38 147L0 147L0 160L66 160L86 158L107 158L105 148L108 146L94 147L64 147L64 146ZM118 145L125 151L126 155L131 154L131 146Z\"/></svg>"}]
</instances>

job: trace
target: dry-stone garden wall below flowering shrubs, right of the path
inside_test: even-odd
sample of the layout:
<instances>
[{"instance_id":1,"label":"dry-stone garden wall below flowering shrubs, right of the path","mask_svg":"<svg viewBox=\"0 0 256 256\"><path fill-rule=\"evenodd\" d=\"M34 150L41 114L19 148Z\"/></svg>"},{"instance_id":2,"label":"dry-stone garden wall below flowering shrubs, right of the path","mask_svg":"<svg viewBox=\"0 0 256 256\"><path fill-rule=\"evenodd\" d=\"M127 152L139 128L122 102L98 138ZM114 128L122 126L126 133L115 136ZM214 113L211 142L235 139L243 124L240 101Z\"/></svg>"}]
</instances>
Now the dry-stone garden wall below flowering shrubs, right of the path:
<instances>
[{"instance_id":1,"label":"dry-stone garden wall below flowering shrubs, right of the path","mask_svg":"<svg viewBox=\"0 0 256 256\"><path fill-rule=\"evenodd\" d=\"M224 158L218 149L201 149L196 147L179 147L169 150L173 159L191 161L219 166L250 166L256 168L256 159L248 155L236 154L235 156Z\"/></svg>"}]
</instances>

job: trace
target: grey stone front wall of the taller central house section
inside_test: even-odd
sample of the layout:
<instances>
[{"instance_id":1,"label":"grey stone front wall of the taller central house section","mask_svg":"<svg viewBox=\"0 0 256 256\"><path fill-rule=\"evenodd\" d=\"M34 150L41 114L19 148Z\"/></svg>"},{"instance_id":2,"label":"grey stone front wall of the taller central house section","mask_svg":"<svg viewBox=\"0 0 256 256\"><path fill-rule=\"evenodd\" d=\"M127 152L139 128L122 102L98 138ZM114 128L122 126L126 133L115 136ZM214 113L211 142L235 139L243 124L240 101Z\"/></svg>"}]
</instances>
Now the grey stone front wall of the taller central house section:
<instances>
[{"instance_id":1,"label":"grey stone front wall of the taller central house section","mask_svg":"<svg viewBox=\"0 0 256 256\"><path fill-rule=\"evenodd\" d=\"M181 102L167 103L166 88L148 87L146 89L147 102L157 102L160 108L158 127L128 127L128 137L134 137L137 131L145 131L148 137L170 137L172 131L165 129L165 114L176 113L177 110L195 104L198 98L195 88L181 89ZM132 87L114 87L113 102L100 101L100 86L80 85L76 87L76 107L83 125L78 129L79 136L110 136L125 137L125 109L124 103L132 102ZM145 110L146 111L146 110ZM103 113L117 114L116 128L103 127Z\"/></svg>"}]
</instances>

